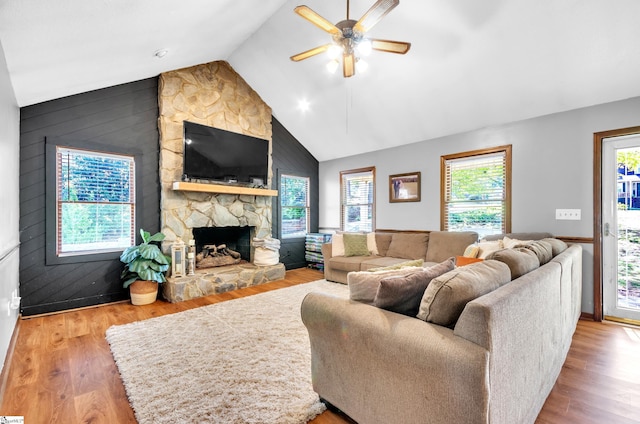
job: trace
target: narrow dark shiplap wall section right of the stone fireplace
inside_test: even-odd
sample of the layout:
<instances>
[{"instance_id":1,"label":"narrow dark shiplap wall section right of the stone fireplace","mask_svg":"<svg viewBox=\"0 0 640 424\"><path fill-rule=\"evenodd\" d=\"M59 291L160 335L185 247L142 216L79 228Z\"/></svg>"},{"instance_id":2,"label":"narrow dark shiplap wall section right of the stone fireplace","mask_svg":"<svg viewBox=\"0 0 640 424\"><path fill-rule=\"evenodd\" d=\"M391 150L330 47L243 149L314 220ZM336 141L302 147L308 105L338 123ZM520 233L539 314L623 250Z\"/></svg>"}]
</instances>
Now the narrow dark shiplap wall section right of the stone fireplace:
<instances>
[{"instance_id":1,"label":"narrow dark shiplap wall section right of the stone fireplace","mask_svg":"<svg viewBox=\"0 0 640 424\"><path fill-rule=\"evenodd\" d=\"M293 137L273 117L272 120L272 140L273 140L273 181L272 187L278 189L278 176L280 173L291 173L292 175L307 176L310 178L310 206L311 206L311 232L318 231L318 161L307 149ZM306 266L304 259L304 238L282 239L280 235L280 202L279 198L273 200L273 237L279 238L280 262L284 263L287 269L295 269Z\"/></svg>"}]
</instances>

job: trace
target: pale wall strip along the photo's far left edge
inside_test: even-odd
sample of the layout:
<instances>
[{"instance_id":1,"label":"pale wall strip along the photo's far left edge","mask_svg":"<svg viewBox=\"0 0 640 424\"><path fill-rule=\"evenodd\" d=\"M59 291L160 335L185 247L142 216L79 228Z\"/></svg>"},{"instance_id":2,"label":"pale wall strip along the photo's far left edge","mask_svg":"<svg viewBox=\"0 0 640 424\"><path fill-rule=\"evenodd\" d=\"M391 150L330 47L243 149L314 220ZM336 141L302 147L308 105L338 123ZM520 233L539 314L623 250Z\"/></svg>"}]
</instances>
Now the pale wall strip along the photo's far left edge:
<instances>
[{"instance_id":1,"label":"pale wall strip along the photo's far left edge","mask_svg":"<svg viewBox=\"0 0 640 424\"><path fill-rule=\"evenodd\" d=\"M18 290L19 228L19 165L20 109L16 102L4 50L0 45L0 366L4 366L11 335L18 319L18 310L9 310L8 303Z\"/></svg>"}]
</instances>

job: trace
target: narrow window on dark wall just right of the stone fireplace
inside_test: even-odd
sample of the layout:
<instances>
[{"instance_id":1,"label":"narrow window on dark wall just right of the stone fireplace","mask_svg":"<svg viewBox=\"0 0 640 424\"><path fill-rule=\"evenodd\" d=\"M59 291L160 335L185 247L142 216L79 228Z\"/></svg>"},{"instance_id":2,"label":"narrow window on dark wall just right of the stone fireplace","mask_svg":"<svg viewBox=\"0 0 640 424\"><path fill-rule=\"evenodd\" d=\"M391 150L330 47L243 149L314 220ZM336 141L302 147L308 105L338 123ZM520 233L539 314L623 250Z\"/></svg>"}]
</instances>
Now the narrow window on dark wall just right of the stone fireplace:
<instances>
[{"instance_id":1,"label":"narrow window on dark wall just right of the stone fireplace","mask_svg":"<svg viewBox=\"0 0 640 424\"><path fill-rule=\"evenodd\" d=\"M282 238L304 237L309 232L309 178L280 176L280 228Z\"/></svg>"}]
</instances>

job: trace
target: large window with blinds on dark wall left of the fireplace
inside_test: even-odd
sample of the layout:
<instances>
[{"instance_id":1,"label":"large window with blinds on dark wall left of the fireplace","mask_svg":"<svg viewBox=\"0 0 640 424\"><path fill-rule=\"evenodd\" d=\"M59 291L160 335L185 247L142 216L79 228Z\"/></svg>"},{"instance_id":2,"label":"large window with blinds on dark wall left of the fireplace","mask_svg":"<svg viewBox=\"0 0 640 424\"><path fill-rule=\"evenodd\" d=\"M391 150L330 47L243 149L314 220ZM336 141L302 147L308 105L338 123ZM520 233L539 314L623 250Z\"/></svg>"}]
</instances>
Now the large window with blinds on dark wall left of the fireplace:
<instances>
[{"instance_id":1,"label":"large window with blinds on dark wall left of the fireplace","mask_svg":"<svg viewBox=\"0 0 640 424\"><path fill-rule=\"evenodd\" d=\"M134 157L56 146L56 255L135 244Z\"/></svg>"}]
</instances>

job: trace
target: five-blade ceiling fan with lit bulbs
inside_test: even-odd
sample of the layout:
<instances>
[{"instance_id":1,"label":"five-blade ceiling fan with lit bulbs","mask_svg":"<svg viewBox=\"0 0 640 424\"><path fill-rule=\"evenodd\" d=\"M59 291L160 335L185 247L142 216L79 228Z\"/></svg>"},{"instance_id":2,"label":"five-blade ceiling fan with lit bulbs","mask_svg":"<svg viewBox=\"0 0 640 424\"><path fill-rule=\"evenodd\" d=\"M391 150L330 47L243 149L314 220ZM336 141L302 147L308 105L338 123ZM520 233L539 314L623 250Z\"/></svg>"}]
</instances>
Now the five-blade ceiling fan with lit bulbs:
<instances>
[{"instance_id":1,"label":"five-blade ceiling fan with lit bulbs","mask_svg":"<svg viewBox=\"0 0 640 424\"><path fill-rule=\"evenodd\" d=\"M400 4L400 0L378 0L360 20L354 21L349 19L349 0L347 0L347 19L335 25L307 6L296 7L294 9L295 13L331 34L333 42L291 56L291 60L299 62L327 51L332 57L332 61L329 62L327 68L335 71L340 65L338 58L342 55L342 74L345 78L348 78L356 73L356 62L360 60L359 55L366 55L368 51L378 50L405 54L409 51L411 43L365 37L366 32L380 22L398 4Z\"/></svg>"}]
</instances>

